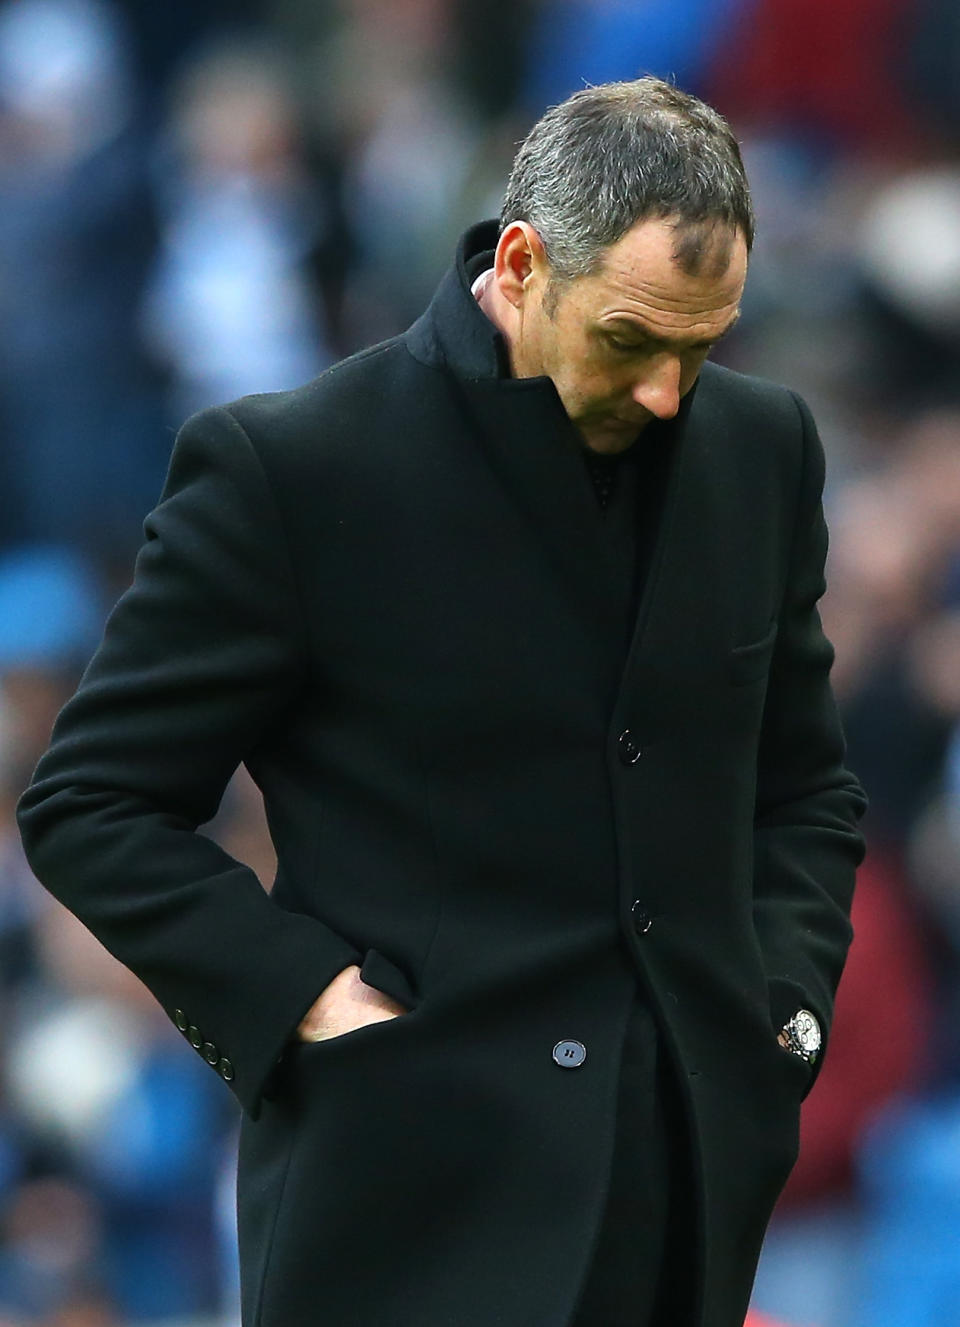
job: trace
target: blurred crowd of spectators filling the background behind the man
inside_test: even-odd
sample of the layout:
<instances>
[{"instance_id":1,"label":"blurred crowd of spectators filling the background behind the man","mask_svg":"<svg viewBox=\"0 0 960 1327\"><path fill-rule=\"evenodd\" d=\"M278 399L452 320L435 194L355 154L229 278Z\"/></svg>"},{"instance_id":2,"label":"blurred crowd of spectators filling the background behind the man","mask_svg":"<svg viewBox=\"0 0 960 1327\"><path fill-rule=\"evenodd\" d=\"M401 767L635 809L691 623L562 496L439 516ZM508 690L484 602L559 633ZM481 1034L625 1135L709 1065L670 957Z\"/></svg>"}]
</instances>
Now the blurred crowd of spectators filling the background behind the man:
<instances>
[{"instance_id":1,"label":"blurred crowd of spectators filling the background behind the man","mask_svg":"<svg viewBox=\"0 0 960 1327\"><path fill-rule=\"evenodd\" d=\"M0 1327L238 1322L232 1097L13 825L178 425L406 326L536 115L643 72L744 142L758 242L722 358L818 419L823 614L871 796L756 1304L960 1322L955 0L3 0ZM270 882L248 779L204 832Z\"/></svg>"}]
</instances>

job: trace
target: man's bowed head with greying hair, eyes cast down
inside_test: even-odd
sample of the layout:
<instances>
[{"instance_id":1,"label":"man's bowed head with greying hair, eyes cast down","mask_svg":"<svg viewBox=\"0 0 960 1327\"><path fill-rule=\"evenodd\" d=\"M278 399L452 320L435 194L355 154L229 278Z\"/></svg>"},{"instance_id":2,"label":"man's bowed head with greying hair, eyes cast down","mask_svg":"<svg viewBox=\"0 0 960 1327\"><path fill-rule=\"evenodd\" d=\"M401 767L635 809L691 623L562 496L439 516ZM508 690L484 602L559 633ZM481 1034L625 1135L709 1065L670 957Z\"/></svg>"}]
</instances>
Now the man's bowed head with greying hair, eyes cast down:
<instances>
[{"instance_id":1,"label":"man's bowed head with greying hair, eyes cast down","mask_svg":"<svg viewBox=\"0 0 960 1327\"><path fill-rule=\"evenodd\" d=\"M733 325L753 243L726 121L656 78L554 106L522 143L483 300L518 377L547 374L587 442L671 418Z\"/></svg>"}]
</instances>

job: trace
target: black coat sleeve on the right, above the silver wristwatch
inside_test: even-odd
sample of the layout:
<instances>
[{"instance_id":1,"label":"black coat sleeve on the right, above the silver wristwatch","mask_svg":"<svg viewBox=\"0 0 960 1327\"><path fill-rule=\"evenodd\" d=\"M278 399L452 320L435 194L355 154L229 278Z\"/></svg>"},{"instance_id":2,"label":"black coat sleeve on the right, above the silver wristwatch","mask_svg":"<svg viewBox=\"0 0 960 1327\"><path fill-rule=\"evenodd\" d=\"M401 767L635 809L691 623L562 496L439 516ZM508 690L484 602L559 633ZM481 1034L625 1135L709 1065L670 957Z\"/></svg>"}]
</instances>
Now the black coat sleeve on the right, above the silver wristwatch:
<instances>
[{"instance_id":1,"label":"black coat sleeve on the right, above the silver wristwatch","mask_svg":"<svg viewBox=\"0 0 960 1327\"><path fill-rule=\"evenodd\" d=\"M794 399L803 470L758 758L754 925L774 1027L781 1028L801 1006L809 1007L826 1043L852 938L854 874L864 851L856 821L866 799L844 768L830 687L834 652L817 610L826 588L823 447L806 405Z\"/></svg>"}]
</instances>

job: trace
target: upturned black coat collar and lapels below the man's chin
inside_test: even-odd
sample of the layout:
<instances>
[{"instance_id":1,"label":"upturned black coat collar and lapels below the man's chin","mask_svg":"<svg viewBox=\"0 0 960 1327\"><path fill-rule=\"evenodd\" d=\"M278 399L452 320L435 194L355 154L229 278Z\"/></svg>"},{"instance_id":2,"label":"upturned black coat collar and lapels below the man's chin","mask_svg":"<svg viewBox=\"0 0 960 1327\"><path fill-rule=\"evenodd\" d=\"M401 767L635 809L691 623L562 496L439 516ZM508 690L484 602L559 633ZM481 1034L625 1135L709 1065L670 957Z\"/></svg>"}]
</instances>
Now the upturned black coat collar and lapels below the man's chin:
<instances>
[{"instance_id":1,"label":"upturned black coat collar and lapels below the man's chin","mask_svg":"<svg viewBox=\"0 0 960 1327\"><path fill-rule=\"evenodd\" d=\"M637 446L649 450L640 483L657 483L657 533L649 573L636 613L629 658L624 661L621 568L603 527L583 460L583 439L571 423L552 381L513 378L502 333L471 293L467 265L495 248L497 222L481 222L462 236L454 264L426 312L406 333L414 358L446 369L462 393L471 431L510 499L522 508L532 537L548 556L580 621L603 644L604 671L615 690L637 662L644 624L657 589L677 506L680 470L692 390L676 419L653 421ZM645 653L645 650L644 650Z\"/></svg>"}]
</instances>

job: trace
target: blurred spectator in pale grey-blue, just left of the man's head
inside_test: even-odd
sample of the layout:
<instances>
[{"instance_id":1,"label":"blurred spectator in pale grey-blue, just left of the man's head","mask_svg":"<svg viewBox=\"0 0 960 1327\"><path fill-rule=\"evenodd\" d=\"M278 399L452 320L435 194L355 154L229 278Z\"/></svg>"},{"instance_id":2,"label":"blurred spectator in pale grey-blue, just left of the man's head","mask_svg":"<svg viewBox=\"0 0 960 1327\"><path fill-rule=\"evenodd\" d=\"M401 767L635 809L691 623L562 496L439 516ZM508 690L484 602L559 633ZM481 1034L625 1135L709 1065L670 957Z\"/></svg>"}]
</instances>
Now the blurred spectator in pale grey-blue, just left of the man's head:
<instances>
[{"instance_id":1,"label":"blurred spectator in pale grey-blue, just left of the man's head","mask_svg":"<svg viewBox=\"0 0 960 1327\"><path fill-rule=\"evenodd\" d=\"M345 318L355 346L420 314L486 194L486 126L455 84L454 35L445 0L353 0L311 52L307 78L324 89L347 149L343 207L356 269Z\"/></svg>"}]
</instances>

